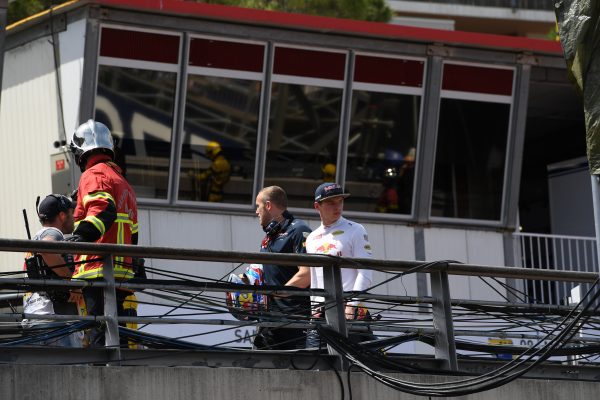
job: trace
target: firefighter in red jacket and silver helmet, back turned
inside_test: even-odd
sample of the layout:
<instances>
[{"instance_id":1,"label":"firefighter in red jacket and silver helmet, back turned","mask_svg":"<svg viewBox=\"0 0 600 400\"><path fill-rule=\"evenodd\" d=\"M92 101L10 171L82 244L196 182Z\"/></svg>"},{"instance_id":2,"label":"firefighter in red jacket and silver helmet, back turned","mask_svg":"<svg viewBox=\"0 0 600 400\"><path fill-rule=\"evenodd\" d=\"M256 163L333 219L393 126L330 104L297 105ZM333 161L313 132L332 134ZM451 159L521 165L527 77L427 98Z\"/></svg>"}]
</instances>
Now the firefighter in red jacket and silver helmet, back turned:
<instances>
[{"instance_id":1,"label":"firefighter in red jacket and silver helmet, back turned","mask_svg":"<svg viewBox=\"0 0 600 400\"><path fill-rule=\"evenodd\" d=\"M135 192L113 162L113 140L108 128L89 120L77 128L71 138L70 150L82 175L77 192L75 230L67 240L76 242L137 244L138 220ZM75 279L102 280L104 261L99 256L77 255ZM134 276L130 257L113 259L115 280L122 282ZM83 297L88 315L104 314L103 288L85 287ZM117 314L126 315L123 303L131 292L117 290ZM90 346L101 346L104 334L99 329L90 332Z\"/></svg>"}]
</instances>

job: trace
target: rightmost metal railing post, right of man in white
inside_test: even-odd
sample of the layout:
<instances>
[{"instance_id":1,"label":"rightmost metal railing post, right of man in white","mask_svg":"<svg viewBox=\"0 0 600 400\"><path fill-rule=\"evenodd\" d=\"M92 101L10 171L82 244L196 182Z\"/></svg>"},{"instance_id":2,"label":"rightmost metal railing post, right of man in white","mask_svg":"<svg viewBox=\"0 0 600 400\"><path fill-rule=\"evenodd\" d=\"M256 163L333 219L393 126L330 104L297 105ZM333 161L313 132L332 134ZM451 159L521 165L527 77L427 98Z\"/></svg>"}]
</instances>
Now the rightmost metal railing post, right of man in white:
<instances>
[{"instance_id":1,"label":"rightmost metal railing post, right of man in white","mask_svg":"<svg viewBox=\"0 0 600 400\"><path fill-rule=\"evenodd\" d=\"M430 279L431 295L434 298L432 308L433 328L435 330L435 358L442 360L444 369L457 371L458 362L456 360L448 273L446 271L431 272Z\"/></svg>"}]
</instances>

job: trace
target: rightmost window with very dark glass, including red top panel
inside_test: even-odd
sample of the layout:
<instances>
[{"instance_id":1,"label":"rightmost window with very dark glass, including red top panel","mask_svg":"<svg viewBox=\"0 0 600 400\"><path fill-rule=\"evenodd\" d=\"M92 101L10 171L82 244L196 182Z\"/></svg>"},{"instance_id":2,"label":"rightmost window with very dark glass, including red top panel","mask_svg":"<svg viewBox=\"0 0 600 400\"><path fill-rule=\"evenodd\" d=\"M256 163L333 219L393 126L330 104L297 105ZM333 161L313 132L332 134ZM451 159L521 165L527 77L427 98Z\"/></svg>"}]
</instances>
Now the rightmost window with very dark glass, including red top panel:
<instances>
[{"instance_id":1,"label":"rightmost window with very dark glass, including red top panel","mask_svg":"<svg viewBox=\"0 0 600 400\"><path fill-rule=\"evenodd\" d=\"M500 220L513 75L444 64L433 217Z\"/></svg>"}]
</instances>

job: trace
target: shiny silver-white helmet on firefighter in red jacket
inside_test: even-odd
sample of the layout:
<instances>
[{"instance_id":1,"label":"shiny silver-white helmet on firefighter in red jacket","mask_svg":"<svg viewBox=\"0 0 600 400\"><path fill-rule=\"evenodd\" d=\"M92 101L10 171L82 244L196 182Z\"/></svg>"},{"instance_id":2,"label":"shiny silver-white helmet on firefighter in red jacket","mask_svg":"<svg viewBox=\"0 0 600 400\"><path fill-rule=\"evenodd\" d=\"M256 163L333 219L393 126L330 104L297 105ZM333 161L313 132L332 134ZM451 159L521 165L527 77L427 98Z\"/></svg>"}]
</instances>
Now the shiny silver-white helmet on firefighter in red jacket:
<instances>
[{"instance_id":1,"label":"shiny silver-white helmet on firefighter in red jacket","mask_svg":"<svg viewBox=\"0 0 600 400\"><path fill-rule=\"evenodd\" d=\"M115 157L113 139L110 131L101 122L96 122L92 119L81 124L73 133L71 138L70 149L75 155L75 162L83 168L82 160L92 150L99 149L99 152L109 154L112 158Z\"/></svg>"}]
</instances>

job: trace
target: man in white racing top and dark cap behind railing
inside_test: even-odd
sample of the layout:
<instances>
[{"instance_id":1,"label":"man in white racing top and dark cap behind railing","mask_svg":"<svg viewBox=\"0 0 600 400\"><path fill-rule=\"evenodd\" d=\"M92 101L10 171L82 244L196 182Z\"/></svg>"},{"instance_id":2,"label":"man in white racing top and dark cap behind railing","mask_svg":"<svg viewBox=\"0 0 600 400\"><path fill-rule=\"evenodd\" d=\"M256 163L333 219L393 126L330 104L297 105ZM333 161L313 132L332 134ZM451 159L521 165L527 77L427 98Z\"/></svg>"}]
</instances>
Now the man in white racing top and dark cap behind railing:
<instances>
[{"instance_id":1,"label":"man in white racing top and dark cap behind railing","mask_svg":"<svg viewBox=\"0 0 600 400\"><path fill-rule=\"evenodd\" d=\"M344 192L342 186L334 182L326 182L315 191L314 208L321 217L321 225L306 238L306 252L313 254L329 254L339 257L371 258L371 244L365 228L342 216L344 199L350 193ZM362 291L371 286L373 273L368 269L342 268L342 285L344 291ZM311 289L323 289L323 268L310 268ZM314 314L321 316L320 305L325 299L313 297ZM346 302L346 319L355 319L358 300ZM314 332L309 334L309 346L315 345ZM312 340L311 340L312 339ZM318 342L317 342L318 343Z\"/></svg>"}]
</instances>

